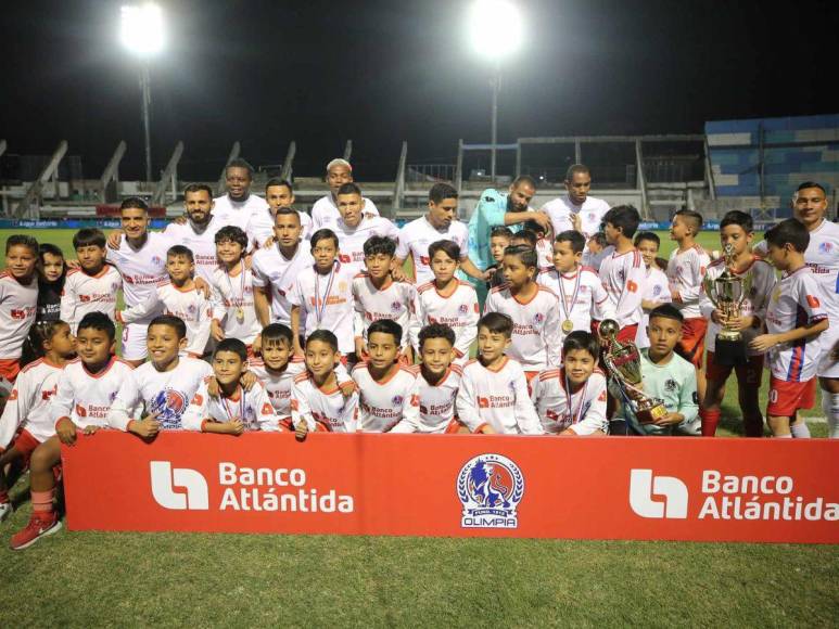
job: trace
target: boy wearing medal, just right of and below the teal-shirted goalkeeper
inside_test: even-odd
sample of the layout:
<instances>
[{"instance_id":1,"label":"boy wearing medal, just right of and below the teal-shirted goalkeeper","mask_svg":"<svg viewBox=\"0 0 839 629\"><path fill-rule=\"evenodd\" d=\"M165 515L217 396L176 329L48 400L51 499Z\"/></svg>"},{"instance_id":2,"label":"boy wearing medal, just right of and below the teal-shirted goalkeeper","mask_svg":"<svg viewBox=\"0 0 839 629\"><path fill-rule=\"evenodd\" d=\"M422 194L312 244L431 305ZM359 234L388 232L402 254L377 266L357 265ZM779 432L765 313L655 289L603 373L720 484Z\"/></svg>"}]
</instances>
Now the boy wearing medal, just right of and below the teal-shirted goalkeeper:
<instances>
[{"instance_id":1,"label":"boy wearing medal, just right of and below the teal-shirted goalkeeper","mask_svg":"<svg viewBox=\"0 0 839 629\"><path fill-rule=\"evenodd\" d=\"M589 332L593 321L614 319L614 307L594 269L583 267L585 238L568 230L554 243L554 268L539 273L537 282L559 297L562 339L574 330Z\"/></svg>"}]
</instances>

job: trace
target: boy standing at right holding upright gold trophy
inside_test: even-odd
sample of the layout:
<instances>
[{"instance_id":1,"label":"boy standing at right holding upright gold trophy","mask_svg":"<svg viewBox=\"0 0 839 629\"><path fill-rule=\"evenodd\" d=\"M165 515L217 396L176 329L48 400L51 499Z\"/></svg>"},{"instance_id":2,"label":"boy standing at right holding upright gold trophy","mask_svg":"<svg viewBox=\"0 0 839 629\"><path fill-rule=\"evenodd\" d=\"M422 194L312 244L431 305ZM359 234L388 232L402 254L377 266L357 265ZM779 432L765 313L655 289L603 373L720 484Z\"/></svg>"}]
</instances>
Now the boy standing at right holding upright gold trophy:
<instances>
[{"instance_id":1,"label":"boy standing at right holding upright gold trophy","mask_svg":"<svg viewBox=\"0 0 839 629\"><path fill-rule=\"evenodd\" d=\"M708 388L699 416L702 436L713 437L720 423L725 382L737 374L737 391L747 437L763 436L758 391L763 380L763 352L748 344L761 332L766 306L775 287L771 265L751 252L752 218L733 210L720 222L723 257L708 267L699 309L709 320Z\"/></svg>"}]
</instances>

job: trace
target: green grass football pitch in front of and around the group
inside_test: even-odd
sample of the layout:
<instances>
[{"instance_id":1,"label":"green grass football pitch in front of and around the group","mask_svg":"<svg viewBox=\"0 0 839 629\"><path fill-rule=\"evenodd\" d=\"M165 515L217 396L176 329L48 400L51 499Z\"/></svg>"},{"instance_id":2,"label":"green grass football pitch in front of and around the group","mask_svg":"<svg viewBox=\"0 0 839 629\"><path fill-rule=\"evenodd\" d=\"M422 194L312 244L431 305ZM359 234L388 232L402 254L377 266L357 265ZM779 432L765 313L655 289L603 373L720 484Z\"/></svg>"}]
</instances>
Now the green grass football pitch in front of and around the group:
<instances>
[{"instance_id":1,"label":"green grass football pitch in front of and around the group","mask_svg":"<svg viewBox=\"0 0 839 629\"><path fill-rule=\"evenodd\" d=\"M72 230L34 235L73 257ZM720 248L716 232L700 244ZM721 434L741 434L733 383L723 415ZM558 495L563 483L573 477L557 478ZM0 525L5 627L839 622L837 547L60 531L13 553L27 489L17 483Z\"/></svg>"}]
</instances>

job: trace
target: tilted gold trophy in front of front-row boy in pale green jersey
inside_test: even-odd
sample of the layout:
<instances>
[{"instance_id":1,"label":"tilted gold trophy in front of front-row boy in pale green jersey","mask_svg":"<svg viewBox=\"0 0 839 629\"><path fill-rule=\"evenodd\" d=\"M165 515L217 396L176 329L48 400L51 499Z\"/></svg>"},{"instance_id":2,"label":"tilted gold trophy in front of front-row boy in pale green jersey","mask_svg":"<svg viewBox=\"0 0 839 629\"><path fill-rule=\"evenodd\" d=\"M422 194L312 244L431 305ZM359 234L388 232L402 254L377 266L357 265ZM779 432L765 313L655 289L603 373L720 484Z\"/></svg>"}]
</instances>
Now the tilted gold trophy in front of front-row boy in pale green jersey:
<instances>
[{"instance_id":1,"label":"tilted gold trophy in front of front-row boy in pale green jersey","mask_svg":"<svg viewBox=\"0 0 839 629\"><path fill-rule=\"evenodd\" d=\"M603 362L609 374L618 382L624 395L632 400L635 416L641 424L650 424L668 414L664 400L652 398L640 388L643 382L640 372L640 352L632 343L618 341L620 330L618 322L606 319L600 322L598 334L606 343Z\"/></svg>"}]
</instances>

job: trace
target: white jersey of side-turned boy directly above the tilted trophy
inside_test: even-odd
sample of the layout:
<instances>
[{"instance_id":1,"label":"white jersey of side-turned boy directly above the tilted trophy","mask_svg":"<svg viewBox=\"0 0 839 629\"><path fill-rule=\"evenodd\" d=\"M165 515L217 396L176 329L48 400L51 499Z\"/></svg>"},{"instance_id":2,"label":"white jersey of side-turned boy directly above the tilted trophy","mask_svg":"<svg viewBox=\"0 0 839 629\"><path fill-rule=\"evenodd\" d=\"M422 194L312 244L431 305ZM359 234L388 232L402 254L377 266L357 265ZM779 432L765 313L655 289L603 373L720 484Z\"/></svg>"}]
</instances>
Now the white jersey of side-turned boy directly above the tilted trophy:
<instances>
[{"instance_id":1,"label":"white jersey of side-turned boy directly above the tilted trophy","mask_svg":"<svg viewBox=\"0 0 839 629\"><path fill-rule=\"evenodd\" d=\"M600 281L614 306L614 316L621 328L641 322L640 305L647 269L638 249L619 254L612 252L600 264Z\"/></svg>"}]
</instances>

